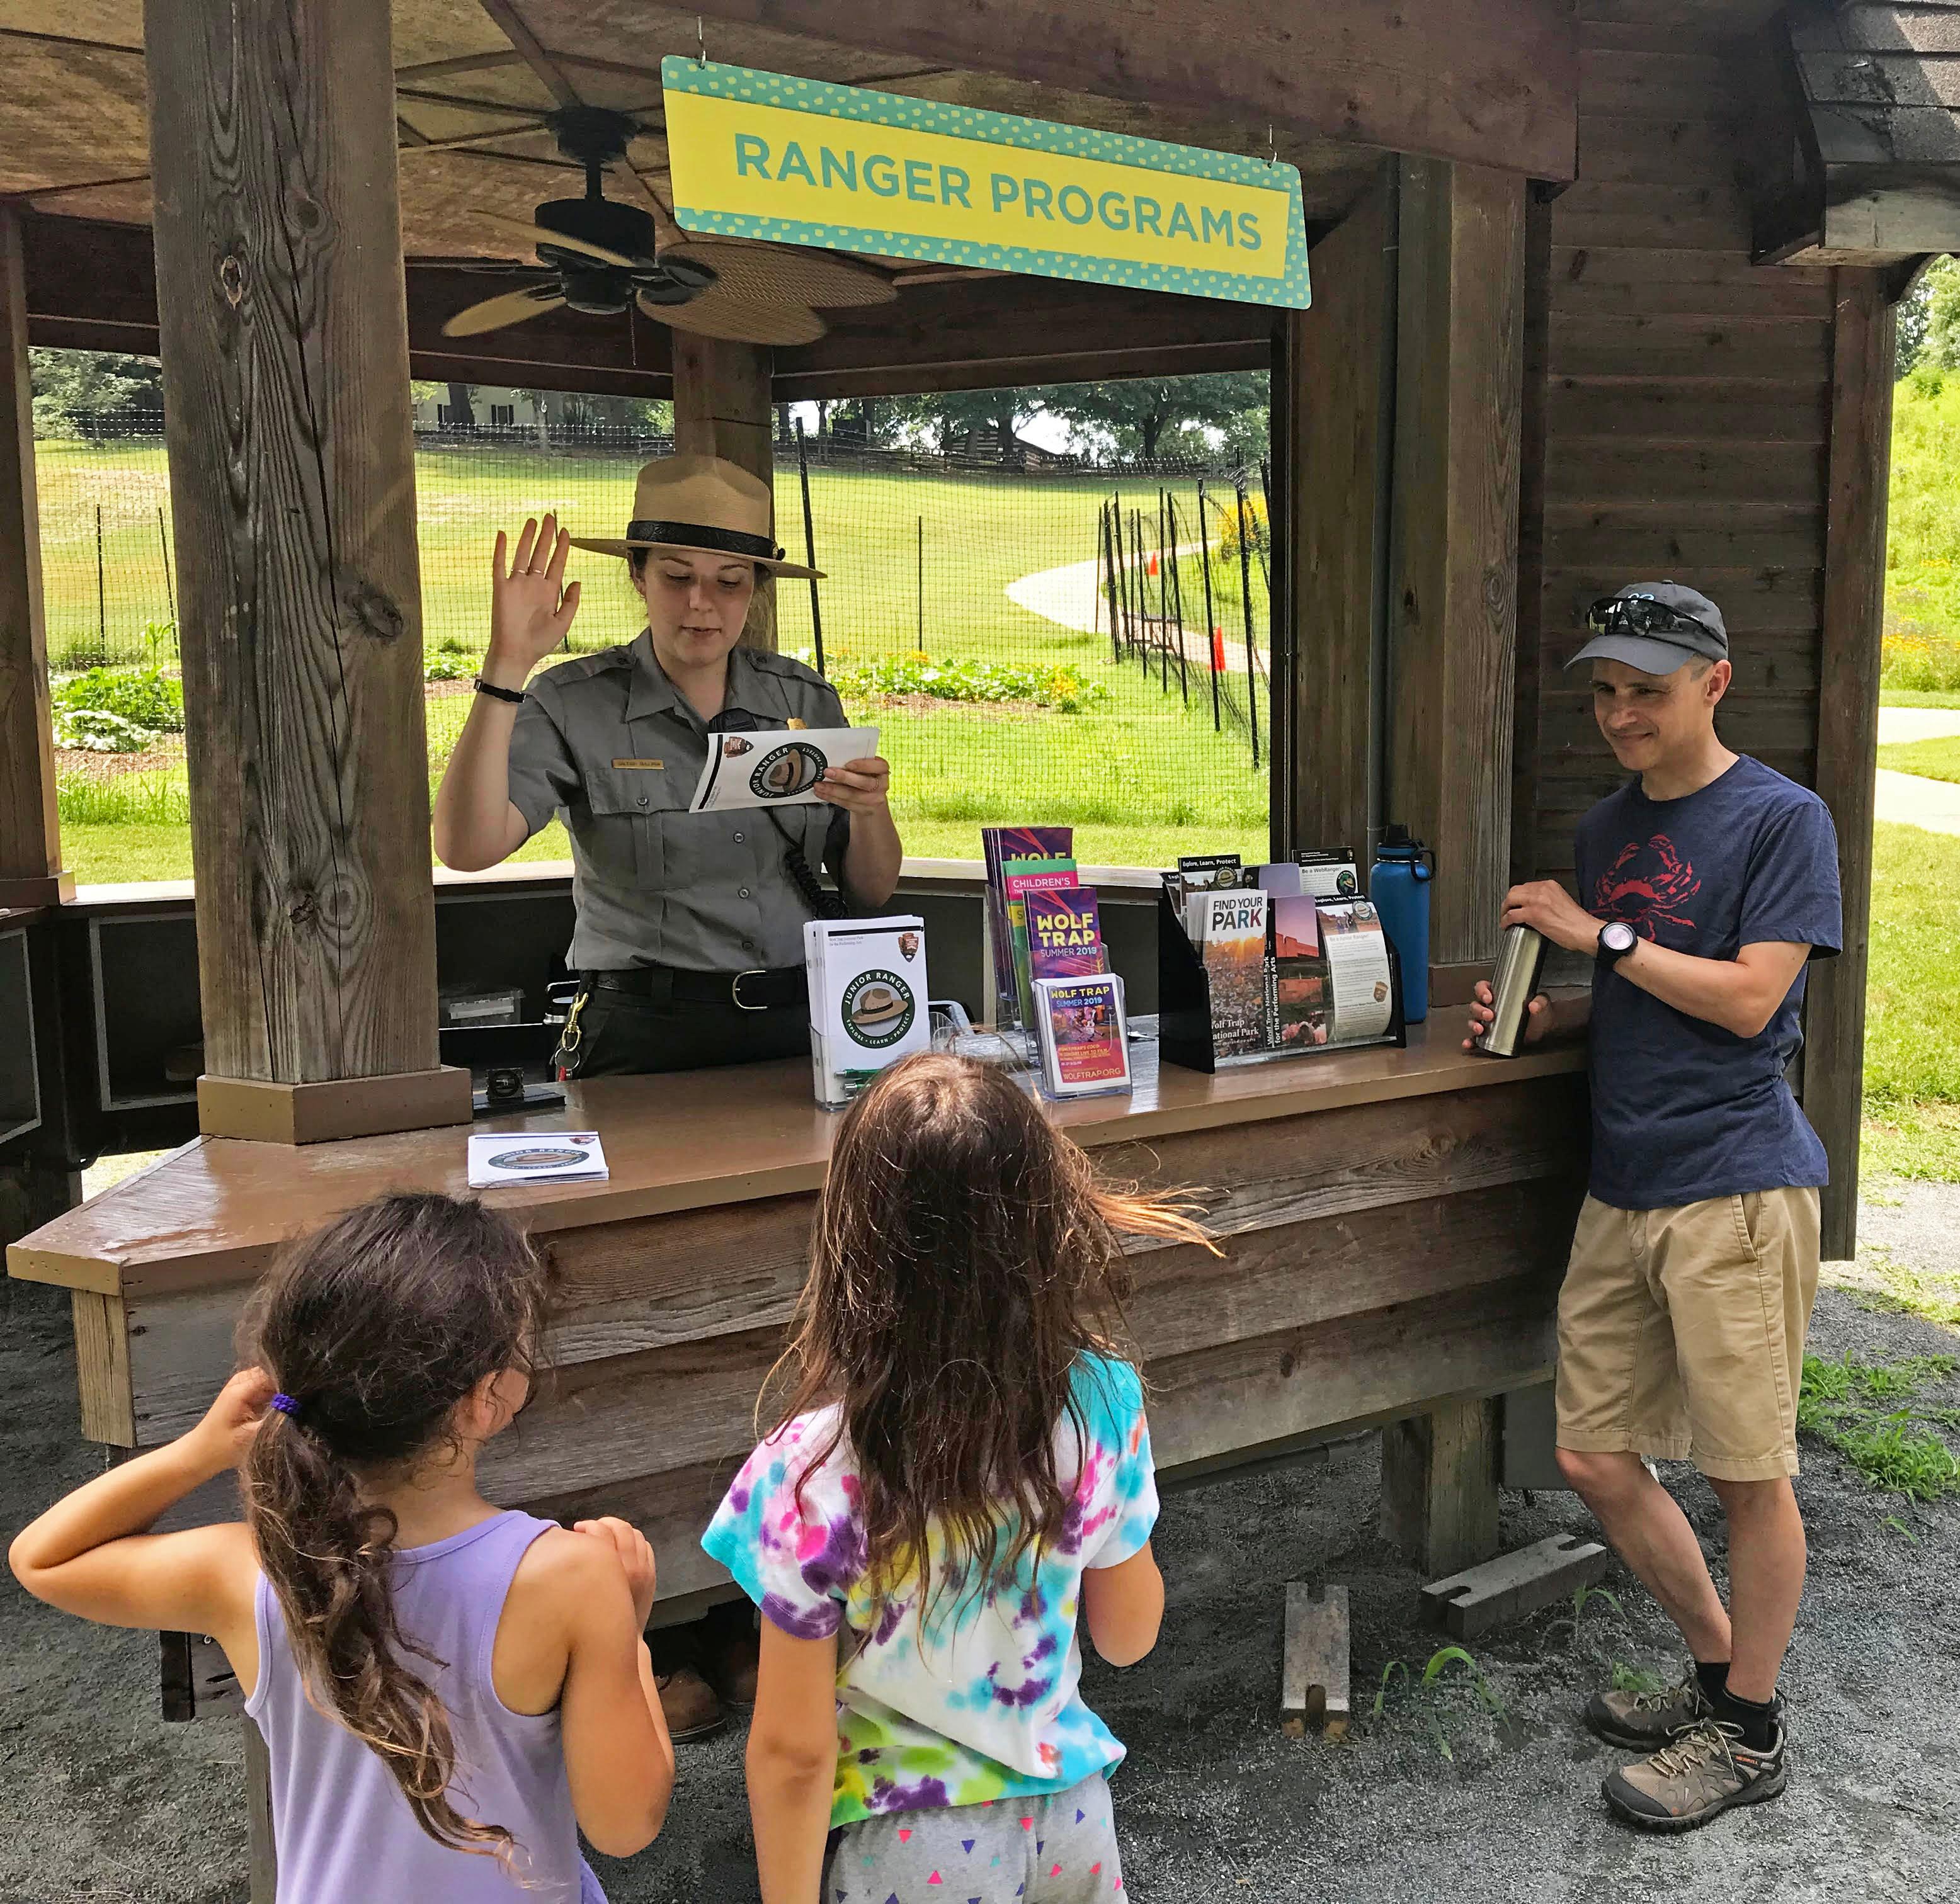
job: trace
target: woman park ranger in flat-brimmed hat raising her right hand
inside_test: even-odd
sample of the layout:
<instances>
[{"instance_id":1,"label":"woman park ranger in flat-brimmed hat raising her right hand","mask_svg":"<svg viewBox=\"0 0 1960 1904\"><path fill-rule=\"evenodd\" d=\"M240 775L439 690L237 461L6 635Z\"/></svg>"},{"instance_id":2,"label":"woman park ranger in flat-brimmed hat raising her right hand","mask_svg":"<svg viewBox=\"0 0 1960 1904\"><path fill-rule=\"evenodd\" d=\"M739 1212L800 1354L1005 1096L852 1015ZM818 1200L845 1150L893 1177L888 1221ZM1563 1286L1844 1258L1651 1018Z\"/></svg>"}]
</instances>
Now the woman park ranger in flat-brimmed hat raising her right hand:
<instances>
[{"instance_id":1,"label":"woman park ranger in flat-brimmed hat raising her right hand","mask_svg":"<svg viewBox=\"0 0 1960 1904\"><path fill-rule=\"evenodd\" d=\"M837 691L802 662L737 641L762 572L809 576L768 533L768 488L719 456L639 472L617 541L547 515L496 539L490 648L435 795L435 850L478 872L555 811L572 836L578 995L566 1075L678 1071L809 1048L804 921L876 911L898 885L890 768L831 768L821 805L690 813L710 735L843 727ZM625 556L647 627L525 686L578 613L568 548Z\"/></svg>"}]
</instances>

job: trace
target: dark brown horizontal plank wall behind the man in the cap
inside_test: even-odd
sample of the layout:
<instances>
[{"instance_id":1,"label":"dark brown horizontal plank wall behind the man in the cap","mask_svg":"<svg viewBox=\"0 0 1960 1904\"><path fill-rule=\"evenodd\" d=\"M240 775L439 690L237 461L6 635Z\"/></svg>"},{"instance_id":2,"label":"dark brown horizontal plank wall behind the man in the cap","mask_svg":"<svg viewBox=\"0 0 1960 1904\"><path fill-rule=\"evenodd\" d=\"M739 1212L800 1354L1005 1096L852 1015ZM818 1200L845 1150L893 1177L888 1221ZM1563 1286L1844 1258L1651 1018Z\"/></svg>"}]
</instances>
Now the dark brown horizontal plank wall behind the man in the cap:
<instances>
[{"instance_id":1,"label":"dark brown horizontal plank wall behind the man in the cap","mask_svg":"<svg viewBox=\"0 0 1960 1904\"><path fill-rule=\"evenodd\" d=\"M1562 664L1586 605L1627 582L1721 603L1723 738L1815 784L1831 425L1833 274L1748 261L1733 16L1580 14L1580 176L1550 206L1539 652L1519 666L1537 725L1521 860L1552 876L1621 778Z\"/></svg>"}]
</instances>

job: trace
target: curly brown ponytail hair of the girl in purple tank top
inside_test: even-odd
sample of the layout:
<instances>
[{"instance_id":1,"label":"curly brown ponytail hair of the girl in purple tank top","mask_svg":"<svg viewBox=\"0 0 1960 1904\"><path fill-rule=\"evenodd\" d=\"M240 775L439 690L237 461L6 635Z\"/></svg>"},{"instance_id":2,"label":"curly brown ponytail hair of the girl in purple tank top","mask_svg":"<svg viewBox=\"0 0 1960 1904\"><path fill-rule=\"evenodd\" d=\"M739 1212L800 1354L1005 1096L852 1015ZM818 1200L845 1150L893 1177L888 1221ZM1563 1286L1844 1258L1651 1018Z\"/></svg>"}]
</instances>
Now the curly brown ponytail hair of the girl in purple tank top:
<instances>
[{"instance_id":1,"label":"curly brown ponytail hair of the girl in purple tank top","mask_svg":"<svg viewBox=\"0 0 1960 1904\"><path fill-rule=\"evenodd\" d=\"M294 1248L239 1324L245 1359L296 1412L272 1410L245 1459L245 1520L278 1595L308 1698L374 1751L416 1822L455 1851L508 1855L465 1818L449 1714L410 1657L390 1593L396 1518L361 1479L412 1471L453 1442L484 1375L533 1369L547 1269L474 1199L376 1197Z\"/></svg>"}]
</instances>

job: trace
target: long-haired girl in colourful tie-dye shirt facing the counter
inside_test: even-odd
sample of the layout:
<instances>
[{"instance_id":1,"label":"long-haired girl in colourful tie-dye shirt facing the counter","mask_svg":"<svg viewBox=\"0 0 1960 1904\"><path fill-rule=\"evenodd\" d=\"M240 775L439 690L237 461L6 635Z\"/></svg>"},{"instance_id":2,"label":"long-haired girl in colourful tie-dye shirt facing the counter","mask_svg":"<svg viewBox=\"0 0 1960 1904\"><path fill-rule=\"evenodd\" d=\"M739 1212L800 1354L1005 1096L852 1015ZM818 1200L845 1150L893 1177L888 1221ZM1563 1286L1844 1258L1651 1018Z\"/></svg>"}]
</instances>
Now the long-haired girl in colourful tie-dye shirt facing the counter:
<instances>
[{"instance_id":1,"label":"long-haired girl in colourful tie-dye shirt facing the counter","mask_svg":"<svg viewBox=\"0 0 1960 1904\"><path fill-rule=\"evenodd\" d=\"M1162 1616L1123 1232L1203 1242L996 1070L909 1058L845 1115L794 1393L704 1542L762 1610L764 1904L1121 1896L1076 1618L1129 1665Z\"/></svg>"}]
</instances>

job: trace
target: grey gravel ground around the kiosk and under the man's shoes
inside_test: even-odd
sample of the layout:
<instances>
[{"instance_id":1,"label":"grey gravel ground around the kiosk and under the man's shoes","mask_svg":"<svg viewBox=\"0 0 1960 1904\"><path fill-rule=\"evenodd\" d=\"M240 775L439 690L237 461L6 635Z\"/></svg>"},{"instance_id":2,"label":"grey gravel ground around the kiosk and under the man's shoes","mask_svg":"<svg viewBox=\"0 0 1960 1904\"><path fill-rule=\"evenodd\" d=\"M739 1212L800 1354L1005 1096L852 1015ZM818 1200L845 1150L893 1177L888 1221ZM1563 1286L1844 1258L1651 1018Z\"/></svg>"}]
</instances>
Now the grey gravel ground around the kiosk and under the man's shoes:
<instances>
[{"instance_id":1,"label":"grey gravel ground around the kiosk and under the man's shoes","mask_svg":"<svg viewBox=\"0 0 1960 1904\"><path fill-rule=\"evenodd\" d=\"M1960 1269L1960 1187L1911 1189L1868 1222L1899 1261ZM100 1455L74 1438L67 1301L16 1283L0 1305L0 1524L14 1528ZM1811 1346L1872 1359L1960 1352L1952 1334L1866 1312L1831 1287ZM1960 1403L1960 1383L1940 1399ZM1827 1450L1805 1450L1811 1575L1784 1677L1789 1792L1691 1837L1650 1839L1605 1812L1599 1779L1621 1755L1578 1722L1615 1661L1672 1661L1670 1628L1619 1569L1607 1579L1619 1610L1595 1598L1574 1626L1570 1606L1554 1608L1476 1647L1501 1710L1450 1669L1429 1692L1397 1677L1372 1716L1384 1667L1401 1659L1419 1679L1441 1643L1413 1618L1419 1577L1374 1532L1376 1459L1370 1436L1317 1465L1166 1500L1164 1638L1143 1665L1092 1663L1086 1679L1131 1745L1115 1788L1141 1904L1590 1904L1662 1890L1725 1904L1960 1900L1960 1502L1901 1510ZM1668 1479L1719 1555L1713 1495L1686 1467ZM1574 1497L1505 1495L1507 1546L1566 1528L1590 1532ZM1356 1720L1341 1745L1288 1739L1274 1722L1290 1579L1350 1589ZM86 1628L0 1585L0 1904L245 1896L237 1732L163 1726L155 1681L147 1634ZM653 1849L598 1863L615 1904L753 1904L739 1734L684 1749Z\"/></svg>"}]
</instances>

